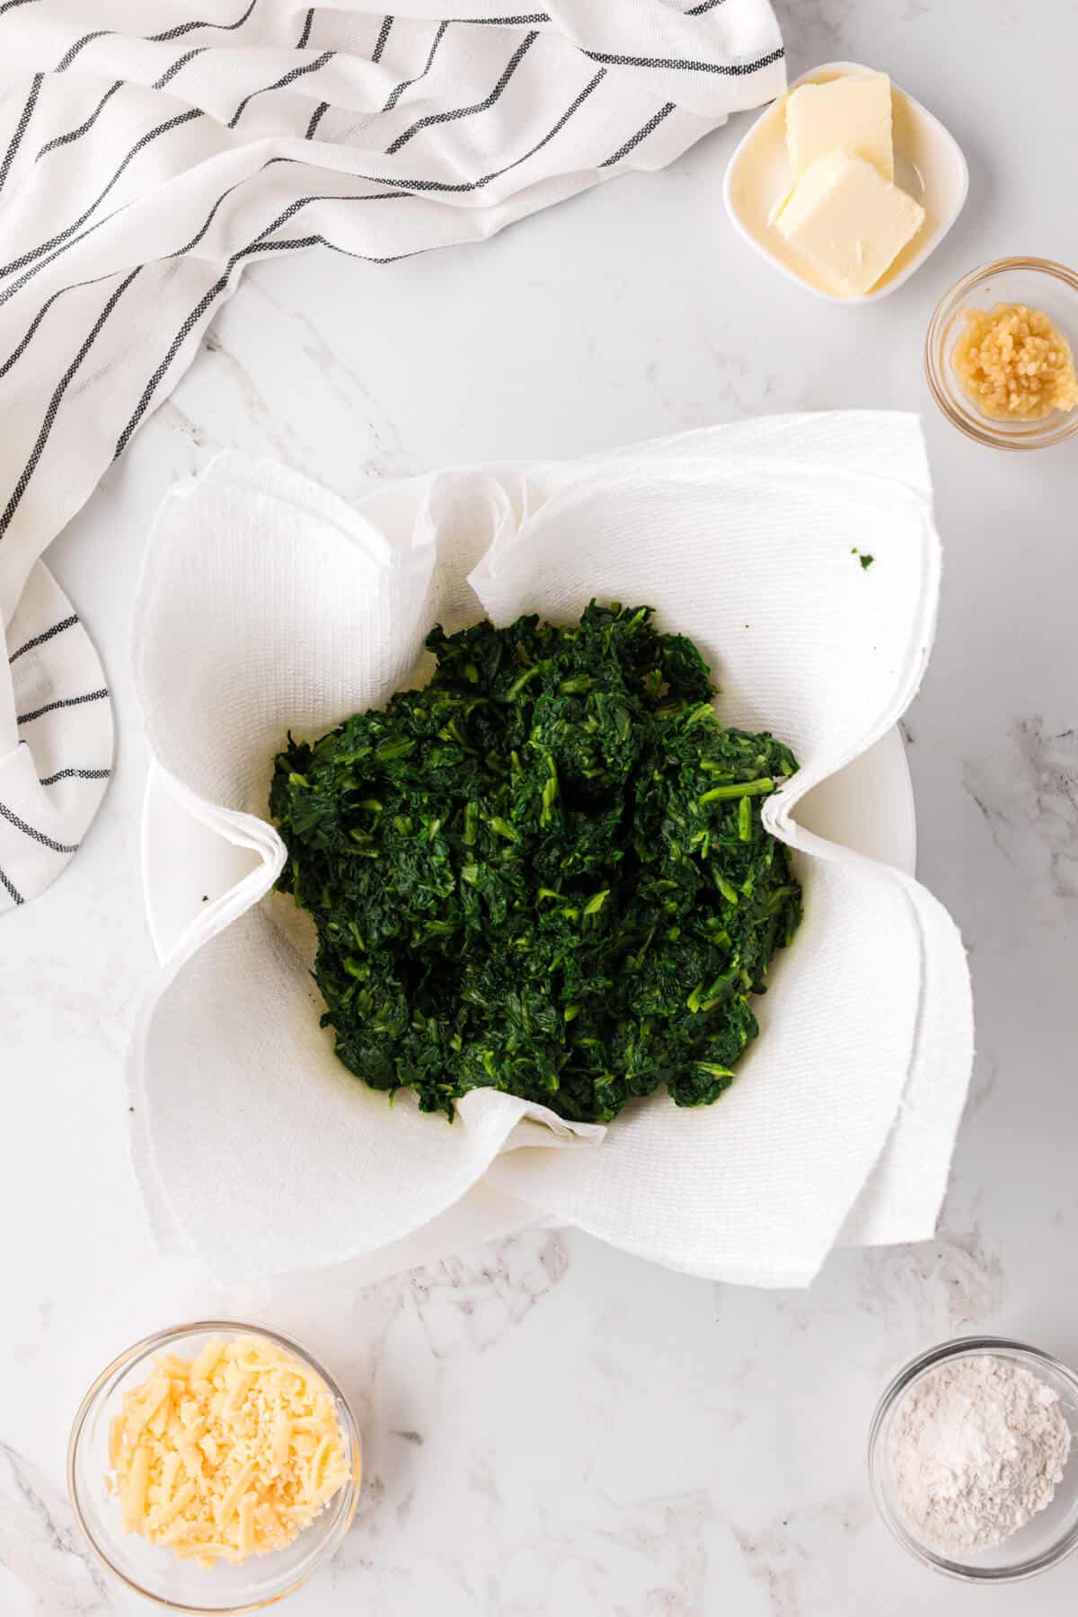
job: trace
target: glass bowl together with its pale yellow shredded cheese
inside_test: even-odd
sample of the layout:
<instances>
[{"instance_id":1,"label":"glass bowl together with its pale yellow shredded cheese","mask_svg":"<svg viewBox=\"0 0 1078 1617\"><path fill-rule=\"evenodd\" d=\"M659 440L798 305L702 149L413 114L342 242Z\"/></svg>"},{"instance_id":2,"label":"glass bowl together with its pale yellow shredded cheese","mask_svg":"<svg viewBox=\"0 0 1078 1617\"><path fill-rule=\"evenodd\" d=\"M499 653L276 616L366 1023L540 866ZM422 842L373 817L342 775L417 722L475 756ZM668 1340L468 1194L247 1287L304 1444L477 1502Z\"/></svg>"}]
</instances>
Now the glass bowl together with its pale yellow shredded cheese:
<instances>
[{"instance_id":1,"label":"glass bowl together with its pale yellow shredded cheese","mask_svg":"<svg viewBox=\"0 0 1078 1617\"><path fill-rule=\"evenodd\" d=\"M339 1547L360 1484L344 1394L296 1342L205 1319L136 1342L89 1389L68 1488L97 1557L168 1611L272 1606Z\"/></svg>"}]
</instances>

